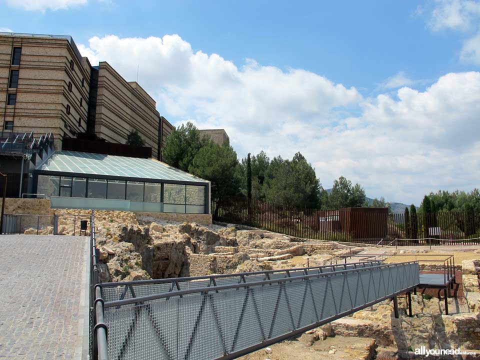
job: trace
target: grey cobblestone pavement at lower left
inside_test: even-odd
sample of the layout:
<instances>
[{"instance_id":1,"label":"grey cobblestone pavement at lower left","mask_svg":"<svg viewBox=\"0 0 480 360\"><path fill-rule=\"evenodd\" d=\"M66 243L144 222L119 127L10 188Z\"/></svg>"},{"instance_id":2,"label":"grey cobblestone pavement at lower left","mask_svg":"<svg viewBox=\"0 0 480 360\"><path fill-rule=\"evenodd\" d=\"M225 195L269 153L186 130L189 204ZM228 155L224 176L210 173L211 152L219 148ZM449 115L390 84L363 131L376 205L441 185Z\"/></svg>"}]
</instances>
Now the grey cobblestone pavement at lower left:
<instances>
[{"instance_id":1,"label":"grey cobblestone pavement at lower left","mask_svg":"<svg viewBox=\"0 0 480 360\"><path fill-rule=\"evenodd\" d=\"M0 359L80 358L87 241L0 235Z\"/></svg>"}]
</instances>

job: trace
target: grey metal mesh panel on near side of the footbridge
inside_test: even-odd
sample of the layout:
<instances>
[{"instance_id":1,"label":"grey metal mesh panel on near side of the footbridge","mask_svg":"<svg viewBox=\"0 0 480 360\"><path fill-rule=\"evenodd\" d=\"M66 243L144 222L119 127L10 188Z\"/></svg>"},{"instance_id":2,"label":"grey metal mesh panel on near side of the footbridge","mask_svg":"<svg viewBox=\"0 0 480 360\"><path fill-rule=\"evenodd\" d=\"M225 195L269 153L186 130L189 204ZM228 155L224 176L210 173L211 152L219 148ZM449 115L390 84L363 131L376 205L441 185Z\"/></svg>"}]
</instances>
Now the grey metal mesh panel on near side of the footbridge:
<instances>
[{"instance_id":1,"label":"grey metal mesh panel on near side of the footbridge","mask_svg":"<svg viewBox=\"0 0 480 360\"><path fill-rule=\"evenodd\" d=\"M418 264L407 263L108 307L108 352L110 359L220 358L391 296L418 281ZM193 282L204 281L192 281L191 286L198 285ZM157 284L152 286L158 290Z\"/></svg>"}]
</instances>

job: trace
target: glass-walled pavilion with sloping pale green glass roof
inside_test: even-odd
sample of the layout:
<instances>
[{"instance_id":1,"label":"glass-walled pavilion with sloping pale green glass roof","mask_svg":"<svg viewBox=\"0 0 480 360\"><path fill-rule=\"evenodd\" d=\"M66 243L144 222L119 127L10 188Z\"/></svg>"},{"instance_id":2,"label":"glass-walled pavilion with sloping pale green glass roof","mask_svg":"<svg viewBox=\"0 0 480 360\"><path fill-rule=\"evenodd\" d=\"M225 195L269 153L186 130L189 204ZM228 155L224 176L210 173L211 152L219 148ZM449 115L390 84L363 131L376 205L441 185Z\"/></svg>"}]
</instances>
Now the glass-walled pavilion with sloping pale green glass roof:
<instances>
[{"instance_id":1,"label":"glass-walled pavilion with sloping pale green glass roof","mask_svg":"<svg viewBox=\"0 0 480 360\"><path fill-rule=\"evenodd\" d=\"M152 158L55 151L34 186L52 207L209 213L209 181Z\"/></svg>"}]
</instances>

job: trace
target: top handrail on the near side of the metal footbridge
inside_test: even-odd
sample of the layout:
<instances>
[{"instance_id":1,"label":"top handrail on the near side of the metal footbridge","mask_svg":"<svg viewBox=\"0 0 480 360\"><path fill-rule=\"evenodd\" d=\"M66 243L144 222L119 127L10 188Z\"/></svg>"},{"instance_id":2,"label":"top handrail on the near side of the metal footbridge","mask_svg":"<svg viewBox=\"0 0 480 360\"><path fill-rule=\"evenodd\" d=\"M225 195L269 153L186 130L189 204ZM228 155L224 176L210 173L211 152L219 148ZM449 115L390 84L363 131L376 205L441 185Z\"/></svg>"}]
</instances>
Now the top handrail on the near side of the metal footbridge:
<instances>
[{"instance_id":1,"label":"top handrail on the near side of the metal footbridge","mask_svg":"<svg viewBox=\"0 0 480 360\"><path fill-rule=\"evenodd\" d=\"M108 307L117 307L117 306L122 306L122 305L128 305L128 304L138 304L141 302L145 301L152 301L152 300L158 300L161 298L170 298L173 296L183 296L187 294L192 294L192 293L201 293L201 294L206 294L211 291L220 291L220 290L226 290L226 289L237 289L237 288L249 288L253 286L264 286L264 285L269 285L273 283L282 283L282 282L292 282L292 281L303 281L303 280L309 280L310 278L319 278L319 277L332 277L336 276L338 274L345 274L345 273L354 273L354 272L359 272L359 271L371 271L372 269L376 268L388 268L388 267L396 267L400 265L406 265L406 264L412 264L412 263L418 263L417 261L404 261L404 262L396 262L396 263L391 263L391 264L383 264L383 265L377 265L377 266L368 266L368 267L359 267L355 269L349 269L349 270L339 270L339 271L333 271L333 272L323 272L323 273L316 273L316 274L310 274L310 275L303 275L303 276L294 276L294 277L282 277L279 279L271 279L271 280L263 280L263 281L255 281L255 282L241 282L241 283L236 283L236 284L228 284L228 285L220 285L220 286L209 286L209 287L201 287L201 288L193 288L193 289L185 289L185 290L176 290L176 291L171 291L171 292L163 292L155 295L147 295L147 296L138 296L138 297L132 297L132 298L127 298L127 299L122 299L122 300L113 300L113 301L108 301L103 303L104 308ZM103 284L97 284L97 287L102 287Z\"/></svg>"}]
</instances>

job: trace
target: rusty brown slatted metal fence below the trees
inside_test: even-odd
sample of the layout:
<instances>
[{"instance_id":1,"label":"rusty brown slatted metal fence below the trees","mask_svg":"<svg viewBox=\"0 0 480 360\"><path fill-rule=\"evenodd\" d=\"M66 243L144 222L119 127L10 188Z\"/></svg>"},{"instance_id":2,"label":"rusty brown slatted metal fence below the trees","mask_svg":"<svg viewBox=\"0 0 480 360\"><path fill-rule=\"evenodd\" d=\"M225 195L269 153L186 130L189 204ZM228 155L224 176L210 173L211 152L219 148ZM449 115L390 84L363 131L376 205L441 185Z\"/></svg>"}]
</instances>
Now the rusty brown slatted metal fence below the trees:
<instances>
[{"instance_id":1,"label":"rusty brown slatted metal fence below the trees","mask_svg":"<svg viewBox=\"0 0 480 360\"><path fill-rule=\"evenodd\" d=\"M319 210L242 196L214 198L213 220L319 240L378 245L480 244L480 214L462 211L388 213L386 208Z\"/></svg>"}]
</instances>

